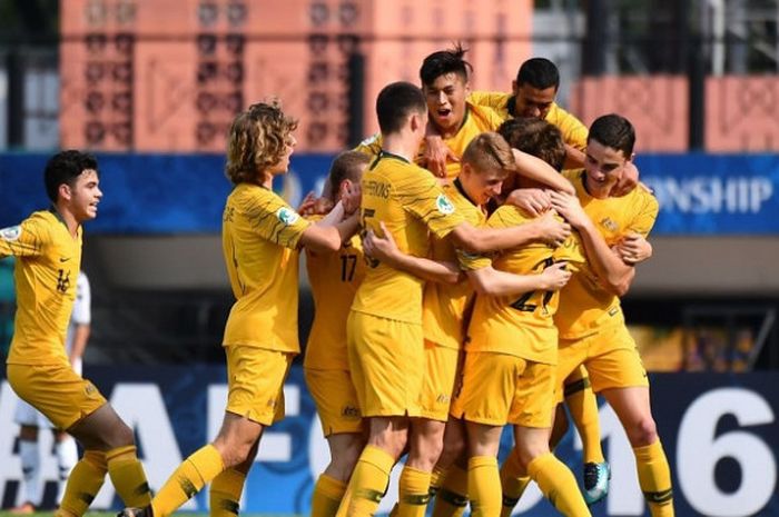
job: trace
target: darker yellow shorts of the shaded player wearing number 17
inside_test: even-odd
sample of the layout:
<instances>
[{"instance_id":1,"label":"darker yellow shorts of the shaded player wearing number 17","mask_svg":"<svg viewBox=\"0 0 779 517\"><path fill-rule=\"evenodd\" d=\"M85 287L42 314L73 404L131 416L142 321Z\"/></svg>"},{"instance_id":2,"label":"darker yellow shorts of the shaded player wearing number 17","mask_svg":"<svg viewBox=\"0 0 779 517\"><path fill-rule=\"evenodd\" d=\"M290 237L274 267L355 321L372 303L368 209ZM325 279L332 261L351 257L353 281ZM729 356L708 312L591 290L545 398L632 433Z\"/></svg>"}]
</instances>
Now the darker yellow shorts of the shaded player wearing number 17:
<instances>
[{"instance_id":1,"label":"darker yellow shorts of the shaded player wearing number 17","mask_svg":"<svg viewBox=\"0 0 779 517\"><path fill-rule=\"evenodd\" d=\"M303 372L325 436L362 433L363 419L348 370L305 368Z\"/></svg>"}]
</instances>

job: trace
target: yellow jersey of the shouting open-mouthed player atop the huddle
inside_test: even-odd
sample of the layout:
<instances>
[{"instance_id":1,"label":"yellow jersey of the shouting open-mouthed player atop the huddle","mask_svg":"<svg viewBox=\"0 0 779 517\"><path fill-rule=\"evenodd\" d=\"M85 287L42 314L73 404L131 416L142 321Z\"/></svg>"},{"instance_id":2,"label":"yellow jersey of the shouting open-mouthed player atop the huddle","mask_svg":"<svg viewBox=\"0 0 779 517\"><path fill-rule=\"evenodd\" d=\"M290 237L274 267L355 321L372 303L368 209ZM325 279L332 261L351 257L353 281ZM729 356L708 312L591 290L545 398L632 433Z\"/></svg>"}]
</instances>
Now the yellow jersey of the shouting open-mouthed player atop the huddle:
<instances>
[{"instance_id":1,"label":"yellow jersey of the shouting open-mouthed player atop the huddle","mask_svg":"<svg viewBox=\"0 0 779 517\"><path fill-rule=\"evenodd\" d=\"M501 123L503 123L503 118L490 108L466 103L463 125L453 137L443 139L443 142L457 158L462 158L471 140L485 131L496 131ZM378 156L382 150L382 136L373 135L366 138L359 142L355 150L371 156ZM424 153L425 143L423 141L414 161L416 163L422 163ZM454 180L454 178L460 175L460 169L461 163L458 161L448 160L446 162L446 178Z\"/></svg>"}]
</instances>

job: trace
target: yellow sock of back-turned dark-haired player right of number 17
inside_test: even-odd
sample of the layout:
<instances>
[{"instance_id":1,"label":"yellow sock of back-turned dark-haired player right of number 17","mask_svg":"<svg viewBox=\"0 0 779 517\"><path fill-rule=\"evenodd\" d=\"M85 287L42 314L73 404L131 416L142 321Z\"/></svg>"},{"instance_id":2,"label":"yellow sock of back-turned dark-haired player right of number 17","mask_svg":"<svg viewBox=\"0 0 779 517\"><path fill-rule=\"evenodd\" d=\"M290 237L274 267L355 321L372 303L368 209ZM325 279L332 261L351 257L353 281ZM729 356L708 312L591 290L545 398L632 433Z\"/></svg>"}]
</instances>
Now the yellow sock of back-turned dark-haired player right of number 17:
<instances>
[{"instance_id":1,"label":"yellow sock of back-turned dark-haired player right of number 17","mask_svg":"<svg viewBox=\"0 0 779 517\"><path fill-rule=\"evenodd\" d=\"M348 489L352 491L347 515L369 517L376 513L389 483L389 471L395 458L374 446L366 446L352 473Z\"/></svg>"}]
</instances>

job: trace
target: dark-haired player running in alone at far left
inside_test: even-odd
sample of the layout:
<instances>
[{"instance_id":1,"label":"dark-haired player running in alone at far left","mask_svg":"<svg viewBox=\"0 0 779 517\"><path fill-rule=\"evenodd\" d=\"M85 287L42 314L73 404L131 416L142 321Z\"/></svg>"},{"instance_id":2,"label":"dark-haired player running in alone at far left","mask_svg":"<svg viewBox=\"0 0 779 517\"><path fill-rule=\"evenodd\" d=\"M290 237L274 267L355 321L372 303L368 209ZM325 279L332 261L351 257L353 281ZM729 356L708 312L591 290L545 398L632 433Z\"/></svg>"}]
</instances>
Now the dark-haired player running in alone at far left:
<instances>
[{"instance_id":1,"label":"dark-haired player running in alone at far left","mask_svg":"<svg viewBox=\"0 0 779 517\"><path fill-rule=\"evenodd\" d=\"M8 381L21 399L67 430L85 453L73 467L57 517L80 517L106 473L126 504L150 500L130 429L65 350L81 266L81 223L97 216L102 197L97 161L76 150L55 155L43 173L49 210L0 230L0 258L17 257L17 315Z\"/></svg>"}]
</instances>

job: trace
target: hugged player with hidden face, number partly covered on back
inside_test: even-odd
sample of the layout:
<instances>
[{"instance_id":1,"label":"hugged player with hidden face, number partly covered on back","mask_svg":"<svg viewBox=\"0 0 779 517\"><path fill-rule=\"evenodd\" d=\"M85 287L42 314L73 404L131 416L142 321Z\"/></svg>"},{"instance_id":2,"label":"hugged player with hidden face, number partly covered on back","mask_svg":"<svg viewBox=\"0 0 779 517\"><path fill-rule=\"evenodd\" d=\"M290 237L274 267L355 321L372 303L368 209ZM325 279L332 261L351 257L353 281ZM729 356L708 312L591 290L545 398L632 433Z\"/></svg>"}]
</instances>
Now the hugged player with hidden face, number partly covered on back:
<instances>
[{"instance_id":1,"label":"hugged player with hidden face, number partly covered on back","mask_svg":"<svg viewBox=\"0 0 779 517\"><path fill-rule=\"evenodd\" d=\"M520 185L527 181L520 179ZM503 206L489 220L494 228L527 223L533 217ZM576 268L584 261L574 236L556 248L533 243L493 258L496 269L519 275L540 271L552 264ZM480 269L489 259L474 258ZM482 296L469 325L462 387L452 412L463 418L467 430L469 497L473 514L501 515L497 448L502 427L514 425L514 455L536 480L544 495L564 515L586 516L576 481L549 451L556 379L556 329L552 316L559 294L538 290L516 296Z\"/></svg>"}]
</instances>

